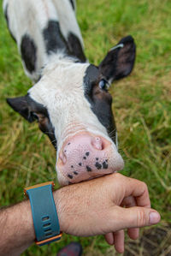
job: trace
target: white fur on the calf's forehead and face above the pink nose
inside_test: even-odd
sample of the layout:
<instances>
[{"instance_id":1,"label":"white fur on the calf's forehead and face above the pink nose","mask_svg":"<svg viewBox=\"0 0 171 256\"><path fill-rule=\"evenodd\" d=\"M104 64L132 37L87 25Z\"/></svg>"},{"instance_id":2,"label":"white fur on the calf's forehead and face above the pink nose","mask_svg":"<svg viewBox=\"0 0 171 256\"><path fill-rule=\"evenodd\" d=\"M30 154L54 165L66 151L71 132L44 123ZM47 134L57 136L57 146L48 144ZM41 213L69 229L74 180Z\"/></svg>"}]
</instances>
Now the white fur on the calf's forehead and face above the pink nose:
<instances>
[{"instance_id":1,"label":"white fur on the calf's forehead and face above the pink nose","mask_svg":"<svg viewBox=\"0 0 171 256\"><path fill-rule=\"evenodd\" d=\"M80 131L102 135L112 142L84 95L83 78L88 66L88 63L73 63L71 59L58 59L44 68L42 79L29 90L31 98L49 112L58 152L69 136Z\"/></svg>"}]
</instances>

